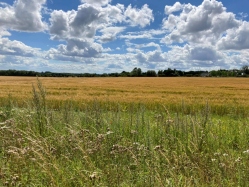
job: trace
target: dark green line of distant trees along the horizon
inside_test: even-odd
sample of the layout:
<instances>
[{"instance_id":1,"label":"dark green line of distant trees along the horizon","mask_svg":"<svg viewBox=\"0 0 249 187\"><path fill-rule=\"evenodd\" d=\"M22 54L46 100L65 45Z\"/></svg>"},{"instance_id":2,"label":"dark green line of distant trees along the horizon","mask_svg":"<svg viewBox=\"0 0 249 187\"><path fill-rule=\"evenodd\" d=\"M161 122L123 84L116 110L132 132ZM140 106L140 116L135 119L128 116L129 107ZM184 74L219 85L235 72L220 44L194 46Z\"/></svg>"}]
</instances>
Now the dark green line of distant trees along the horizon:
<instances>
[{"instance_id":1,"label":"dark green line of distant trees along the horizon","mask_svg":"<svg viewBox=\"0 0 249 187\"><path fill-rule=\"evenodd\" d=\"M50 71L36 72L26 70L0 70L0 76L30 76L30 77L249 77L249 66L233 70L212 70L212 71L182 71L176 69L147 70L135 67L132 71L121 73L55 73Z\"/></svg>"}]
</instances>

